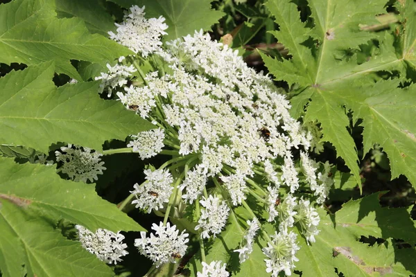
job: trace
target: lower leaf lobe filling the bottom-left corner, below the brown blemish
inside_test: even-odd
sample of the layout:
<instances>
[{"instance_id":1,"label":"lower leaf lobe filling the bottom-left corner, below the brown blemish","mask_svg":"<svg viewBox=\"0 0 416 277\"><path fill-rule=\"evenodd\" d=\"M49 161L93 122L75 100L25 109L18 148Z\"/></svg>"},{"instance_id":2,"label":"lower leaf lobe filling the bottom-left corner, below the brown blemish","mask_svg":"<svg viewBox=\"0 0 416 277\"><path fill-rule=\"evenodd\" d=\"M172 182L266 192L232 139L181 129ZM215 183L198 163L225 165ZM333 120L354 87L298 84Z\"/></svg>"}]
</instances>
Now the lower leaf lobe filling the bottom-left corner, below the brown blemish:
<instances>
[{"instance_id":1,"label":"lower leaf lobe filling the bottom-left corner, below the brown blemish","mask_svg":"<svg viewBox=\"0 0 416 277\"><path fill-rule=\"evenodd\" d=\"M104 262L64 238L28 206L18 197L0 197L2 276L114 276Z\"/></svg>"}]
</instances>

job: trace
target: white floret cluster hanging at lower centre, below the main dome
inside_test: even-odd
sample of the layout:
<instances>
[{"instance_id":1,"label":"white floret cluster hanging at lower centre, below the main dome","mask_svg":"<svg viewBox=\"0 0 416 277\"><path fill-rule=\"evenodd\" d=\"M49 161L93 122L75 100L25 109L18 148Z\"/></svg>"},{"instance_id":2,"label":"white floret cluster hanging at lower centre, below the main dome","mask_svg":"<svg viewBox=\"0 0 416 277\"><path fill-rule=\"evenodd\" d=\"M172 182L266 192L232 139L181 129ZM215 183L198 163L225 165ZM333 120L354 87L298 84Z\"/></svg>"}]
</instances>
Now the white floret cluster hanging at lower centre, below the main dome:
<instances>
[{"instance_id":1,"label":"white floret cluster hanging at lower centre, below the main dome","mask_svg":"<svg viewBox=\"0 0 416 277\"><path fill-rule=\"evenodd\" d=\"M195 229L202 229L201 238L209 238L209 233L215 238L227 223L229 208L225 201L212 195L209 195L208 199L202 197L200 204L205 208L201 209L201 216Z\"/></svg>"}]
</instances>

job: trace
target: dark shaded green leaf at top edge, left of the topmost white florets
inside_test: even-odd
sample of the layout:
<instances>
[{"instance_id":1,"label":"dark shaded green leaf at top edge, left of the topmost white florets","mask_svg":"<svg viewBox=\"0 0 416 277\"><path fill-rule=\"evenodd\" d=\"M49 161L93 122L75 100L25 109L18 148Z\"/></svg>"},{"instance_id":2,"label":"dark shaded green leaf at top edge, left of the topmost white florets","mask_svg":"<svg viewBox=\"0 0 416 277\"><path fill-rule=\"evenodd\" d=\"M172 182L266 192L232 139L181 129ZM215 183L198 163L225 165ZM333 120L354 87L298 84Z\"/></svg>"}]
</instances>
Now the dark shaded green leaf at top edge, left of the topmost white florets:
<instances>
[{"instance_id":1,"label":"dark shaded green leaf at top edge, left of the topmost white florets","mask_svg":"<svg viewBox=\"0 0 416 277\"><path fill-rule=\"evenodd\" d=\"M108 37L115 30L114 20L105 9L105 0L55 0L58 17L78 17L85 21L89 32Z\"/></svg>"}]
</instances>

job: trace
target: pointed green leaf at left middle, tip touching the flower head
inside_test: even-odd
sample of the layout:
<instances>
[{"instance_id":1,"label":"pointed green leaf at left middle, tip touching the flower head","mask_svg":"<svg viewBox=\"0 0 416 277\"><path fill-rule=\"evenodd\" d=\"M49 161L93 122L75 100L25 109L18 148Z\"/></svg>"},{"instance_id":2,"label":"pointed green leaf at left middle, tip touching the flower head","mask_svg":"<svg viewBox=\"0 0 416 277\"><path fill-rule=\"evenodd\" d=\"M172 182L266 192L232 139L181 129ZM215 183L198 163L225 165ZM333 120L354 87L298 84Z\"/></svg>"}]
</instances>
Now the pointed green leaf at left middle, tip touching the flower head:
<instances>
[{"instance_id":1,"label":"pointed green leaf at left middle, tip touching the flower head","mask_svg":"<svg viewBox=\"0 0 416 277\"><path fill-rule=\"evenodd\" d=\"M47 152L64 141L101 150L106 140L124 140L153 126L119 101L101 99L98 82L56 88L53 71L46 63L0 79L0 143Z\"/></svg>"}]
</instances>

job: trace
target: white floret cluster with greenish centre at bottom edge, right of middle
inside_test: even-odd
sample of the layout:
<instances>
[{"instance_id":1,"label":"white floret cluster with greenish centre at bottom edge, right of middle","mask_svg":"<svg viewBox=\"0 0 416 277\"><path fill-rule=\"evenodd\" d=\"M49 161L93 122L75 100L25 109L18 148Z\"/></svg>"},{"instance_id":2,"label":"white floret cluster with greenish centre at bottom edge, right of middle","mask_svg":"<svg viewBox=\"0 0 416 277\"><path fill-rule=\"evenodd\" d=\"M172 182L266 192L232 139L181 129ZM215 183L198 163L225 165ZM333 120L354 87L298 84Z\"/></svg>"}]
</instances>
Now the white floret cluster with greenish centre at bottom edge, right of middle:
<instances>
[{"instance_id":1,"label":"white floret cluster with greenish centre at bottom edge, right of middle","mask_svg":"<svg viewBox=\"0 0 416 277\"><path fill-rule=\"evenodd\" d=\"M275 232L271 236L272 241L268 242L267 247L263 248L266 259L266 271L272 273L272 277L277 277L280 271L284 271L287 276L292 275L294 263L299 259L295 257L300 247L296 243L296 234L292 231Z\"/></svg>"}]
</instances>

